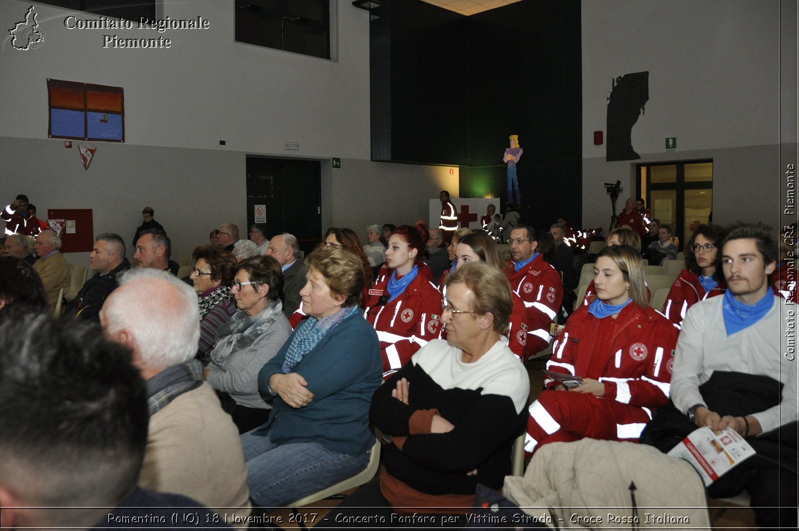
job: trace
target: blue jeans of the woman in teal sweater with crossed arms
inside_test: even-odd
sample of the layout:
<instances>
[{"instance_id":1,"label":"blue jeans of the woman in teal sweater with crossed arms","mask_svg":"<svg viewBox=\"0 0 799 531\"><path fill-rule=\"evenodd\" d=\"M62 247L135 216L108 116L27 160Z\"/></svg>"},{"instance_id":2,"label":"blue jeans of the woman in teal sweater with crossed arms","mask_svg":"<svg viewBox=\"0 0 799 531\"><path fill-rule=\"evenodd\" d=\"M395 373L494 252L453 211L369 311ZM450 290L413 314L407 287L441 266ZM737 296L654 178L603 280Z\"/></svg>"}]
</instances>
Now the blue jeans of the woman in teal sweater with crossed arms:
<instances>
[{"instance_id":1,"label":"blue jeans of the woman in teal sweater with crossed arms","mask_svg":"<svg viewBox=\"0 0 799 531\"><path fill-rule=\"evenodd\" d=\"M243 433L250 497L260 507L283 507L326 489L366 468L372 449L360 456L332 452L317 442L275 445L268 435Z\"/></svg>"}]
</instances>

